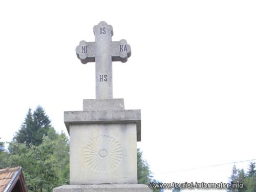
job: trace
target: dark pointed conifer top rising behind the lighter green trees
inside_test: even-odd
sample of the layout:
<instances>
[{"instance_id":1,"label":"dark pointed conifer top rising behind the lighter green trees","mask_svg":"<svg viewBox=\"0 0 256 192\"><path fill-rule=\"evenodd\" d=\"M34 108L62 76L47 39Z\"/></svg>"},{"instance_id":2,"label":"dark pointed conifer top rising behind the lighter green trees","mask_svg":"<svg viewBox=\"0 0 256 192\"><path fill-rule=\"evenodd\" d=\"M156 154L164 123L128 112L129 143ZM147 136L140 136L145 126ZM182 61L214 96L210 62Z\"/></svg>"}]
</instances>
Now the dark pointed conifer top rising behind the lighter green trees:
<instances>
[{"instance_id":1,"label":"dark pointed conifer top rising behind the lighter green trees","mask_svg":"<svg viewBox=\"0 0 256 192\"><path fill-rule=\"evenodd\" d=\"M45 114L45 110L38 105L33 114L29 109L25 121L15 134L13 141L15 143L25 143L27 146L30 146L30 144L39 145L42 143L42 137L47 136L51 127L51 121Z\"/></svg>"}]
</instances>

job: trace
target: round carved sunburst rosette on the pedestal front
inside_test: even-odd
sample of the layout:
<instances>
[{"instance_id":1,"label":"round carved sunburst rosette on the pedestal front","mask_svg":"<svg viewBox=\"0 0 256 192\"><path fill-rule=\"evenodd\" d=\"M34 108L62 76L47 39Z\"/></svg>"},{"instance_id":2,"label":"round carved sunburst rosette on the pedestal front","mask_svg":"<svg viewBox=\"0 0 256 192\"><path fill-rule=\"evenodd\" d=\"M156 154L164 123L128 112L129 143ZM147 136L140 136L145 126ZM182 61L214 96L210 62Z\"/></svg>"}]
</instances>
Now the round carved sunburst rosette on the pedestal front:
<instances>
[{"instance_id":1,"label":"round carved sunburst rosette on the pedestal front","mask_svg":"<svg viewBox=\"0 0 256 192\"><path fill-rule=\"evenodd\" d=\"M83 149L84 160L95 172L114 170L122 160L120 143L108 135L94 137Z\"/></svg>"}]
</instances>

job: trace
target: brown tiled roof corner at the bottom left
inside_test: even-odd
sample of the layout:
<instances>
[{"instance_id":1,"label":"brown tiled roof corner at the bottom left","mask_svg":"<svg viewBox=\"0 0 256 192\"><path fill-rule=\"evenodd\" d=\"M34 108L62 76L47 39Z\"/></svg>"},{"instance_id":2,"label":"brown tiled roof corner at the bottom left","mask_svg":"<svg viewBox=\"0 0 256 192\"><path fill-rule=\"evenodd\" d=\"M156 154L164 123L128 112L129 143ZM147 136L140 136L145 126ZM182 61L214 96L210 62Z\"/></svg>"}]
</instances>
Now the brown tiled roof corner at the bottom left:
<instances>
[{"instance_id":1,"label":"brown tiled roof corner at the bottom left","mask_svg":"<svg viewBox=\"0 0 256 192\"><path fill-rule=\"evenodd\" d=\"M22 167L0 169L0 192L11 191L15 185L20 188L20 191L28 191Z\"/></svg>"}]
</instances>

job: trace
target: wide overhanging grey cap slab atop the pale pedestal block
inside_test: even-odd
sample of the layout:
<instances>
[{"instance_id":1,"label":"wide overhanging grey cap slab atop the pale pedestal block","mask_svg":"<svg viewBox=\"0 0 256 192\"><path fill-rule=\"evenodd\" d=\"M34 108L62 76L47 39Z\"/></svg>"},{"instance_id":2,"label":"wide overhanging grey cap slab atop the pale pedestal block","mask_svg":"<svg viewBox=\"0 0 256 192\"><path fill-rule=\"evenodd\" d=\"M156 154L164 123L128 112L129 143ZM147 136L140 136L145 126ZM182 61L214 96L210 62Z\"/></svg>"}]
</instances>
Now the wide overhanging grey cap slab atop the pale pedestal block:
<instances>
[{"instance_id":1,"label":"wide overhanging grey cap slab atop the pale pedestal block","mask_svg":"<svg viewBox=\"0 0 256 192\"><path fill-rule=\"evenodd\" d=\"M137 141L141 141L140 110L65 111L64 122L70 133L71 124L136 123ZM70 136L71 137L71 136Z\"/></svg>"}]
</instances>

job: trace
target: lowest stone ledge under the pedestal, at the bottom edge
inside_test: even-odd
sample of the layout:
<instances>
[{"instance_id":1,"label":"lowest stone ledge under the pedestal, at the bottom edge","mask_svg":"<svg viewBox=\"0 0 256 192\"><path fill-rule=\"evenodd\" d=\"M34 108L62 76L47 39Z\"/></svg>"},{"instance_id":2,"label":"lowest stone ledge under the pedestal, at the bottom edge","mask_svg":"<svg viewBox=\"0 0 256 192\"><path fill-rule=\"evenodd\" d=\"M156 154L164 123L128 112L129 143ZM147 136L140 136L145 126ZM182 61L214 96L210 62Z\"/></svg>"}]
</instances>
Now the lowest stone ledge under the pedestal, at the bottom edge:
<instances>
[{"instance_id":1,"label":"lowest stone ledge under the pedestal, at the bottom edge","mask_svg":"<svg viewBox=\"0 0 256 192\"><path fill-rule=\"evenodd\" d=\"M152 192L144 184L113 184L113 185L62 185L53 192Z\"/></svg>"}]
</instances>

